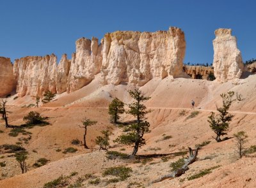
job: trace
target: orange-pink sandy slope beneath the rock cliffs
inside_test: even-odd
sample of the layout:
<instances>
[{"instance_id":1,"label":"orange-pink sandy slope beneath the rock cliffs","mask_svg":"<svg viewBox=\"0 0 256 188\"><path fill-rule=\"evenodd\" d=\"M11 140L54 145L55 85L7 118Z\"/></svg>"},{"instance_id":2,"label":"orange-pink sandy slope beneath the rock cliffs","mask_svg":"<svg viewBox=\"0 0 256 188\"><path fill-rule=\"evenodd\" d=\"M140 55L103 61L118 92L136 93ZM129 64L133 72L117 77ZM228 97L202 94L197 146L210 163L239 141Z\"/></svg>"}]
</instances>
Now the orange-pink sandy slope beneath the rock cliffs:
<instances>
[{"instance_id":1,"label":"orange-pink sandy slope beneath the rock cliffs","mask_svg":"<svg viewBox=\"0 0 256 188\"><path fill-rule=\"evenodd\" d=\"M145 135L147 145L140 148L139 155L185 151L188 147L195 148L196 144L211 141L209 145L199 150L198 160L189 166L189 170L184 175L157 184L150 183L161 175L170 173L170 163L182 156L170 155L166 162L161 157L155 157L148 163L134 163L134 161L119 159L109 160L104 151L97 151L93 140L100 135L100 131L109 127L114 133L111 140L122 134L122 128L113 126L109 122L109 102L118 97L126 104L131 103L127 90L134 88L133 85L100 87L99 79L99 76L96 76L95 80L86 87L71 94L63 93L40 108L24 108L24 105L35 103L35 99L29 96L15 100L13 100L15 96L12 96L9 99L8 110L12 112L9 114L10 124L23 124L24 115L35 110L49 117L51 125L28 129L32 133L31 140L27 144L22 143L29 152L28 163L31 168L28 173L21 175L15 157L0 153L0 162L6 164L0 168L0 187L42 187L45 182L54 180L60 175L70 175L73 171L77 171L77 177L92 173L102 180L98 185L84 181L83 187L140 187L140 185L144 187L256 187L255 154L238 159L234 151L234 138L217 143L212 138L215 135L207 122L210 112L216 110L216 105L221 105L220 94L234 90L241 94L243 101L236 101L230 108L234 119L227 136L232 137L237 131L245 131L248 134L246 147L256 145L256 75L227 83L185 78L154 79L141 87L141 90L151 97L145 105L153 111L147 116L151 129L151 132ZM191 99L195 101L195 111L199 113L196 117L188 119L193 112ZM182 115L180 115L181 112ZM70 143L76 138L82 140L83 129L78 125L84 117L97 120L95 126L88 128L86 140L91 149L87 150L84 150L82 145L74 146ZM131 119L131 116L124 114L120 120ZM26 137L22 134L17 137L8 136L10 129L4 128L3 120L0 121L0 130L4 131L0 133L0 145L15 144L19 138ZM164 136L172 136L172 138L164 140ZM63 154L62 151L67 147L75 147L78 151L73 154ZM58 149L61 149L61 152L56 152ZM129 154L132 148L111 142L109 150ZM40 168L33 168L33 163L41 157L49 159L50 162ZM132 168L131 177L124 182L106 184L104 180L108 177L102 177L102 170L121 164ZM191 175L213 166L219 167L212 170L209 175L188 180ZM75 179L76 177L71 178L70 181ZM132 185L134 182L140 185Z\"/></svg>"}]
</instances>

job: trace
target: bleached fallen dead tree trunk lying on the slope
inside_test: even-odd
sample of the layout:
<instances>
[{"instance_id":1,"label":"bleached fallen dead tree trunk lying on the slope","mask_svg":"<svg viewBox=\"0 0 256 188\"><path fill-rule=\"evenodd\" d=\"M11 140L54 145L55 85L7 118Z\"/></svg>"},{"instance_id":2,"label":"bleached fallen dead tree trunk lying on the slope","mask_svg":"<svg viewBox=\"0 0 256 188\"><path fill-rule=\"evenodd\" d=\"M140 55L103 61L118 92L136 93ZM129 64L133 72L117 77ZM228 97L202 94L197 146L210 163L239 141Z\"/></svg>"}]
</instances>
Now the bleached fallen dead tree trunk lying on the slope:
<instances>
[{"instance_id":1,"label":"bleached fallen dead tree trunk lying on the slope","mask_svg":"<svg viewBox=\"0 0 256 188\"><path fill-rule=\"evenodd\" d=\"M198 148L196 148L195 152L193 152L193 150L190 147L188 149L189 149L189 157L188 159L184 159L185 164L182 166L182 168L179 168L178 170L175 170L168 175L164 175L163 177L160 177L157 180L152 181L151 184L162 182L163 180L166 180L168 178L179 177L180 175L184 174L187 170L189 170L188 168L189 164L194 163L196 161Z\"/></svg>"}]
</instances>

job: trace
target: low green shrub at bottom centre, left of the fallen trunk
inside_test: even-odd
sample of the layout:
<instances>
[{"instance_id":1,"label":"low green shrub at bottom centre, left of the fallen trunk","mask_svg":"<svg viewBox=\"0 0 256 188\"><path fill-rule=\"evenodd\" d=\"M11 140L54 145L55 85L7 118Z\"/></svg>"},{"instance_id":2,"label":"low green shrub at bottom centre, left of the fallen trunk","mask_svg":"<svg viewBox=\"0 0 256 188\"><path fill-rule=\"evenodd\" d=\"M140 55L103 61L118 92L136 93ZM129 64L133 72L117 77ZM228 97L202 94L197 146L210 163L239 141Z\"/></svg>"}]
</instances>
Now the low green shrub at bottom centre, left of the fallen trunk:
<instances>
[{"instance_id":1,"label":"low green shrub at bottom centre, left of the fallen trunk","mask_svg":"<svg viewBox=\"0 0 256 188\"><path fill-rule=\"evenodd\" d=\"M124 166L118 166L118 167L111 167L107 168L106 170L103 171L102 175L107 176L107 175L113 175L115 177L119 177L120 181L126 180L128 177L131 176L132 169L129 167L124 167Z\"/></svg>"}]
</instances>

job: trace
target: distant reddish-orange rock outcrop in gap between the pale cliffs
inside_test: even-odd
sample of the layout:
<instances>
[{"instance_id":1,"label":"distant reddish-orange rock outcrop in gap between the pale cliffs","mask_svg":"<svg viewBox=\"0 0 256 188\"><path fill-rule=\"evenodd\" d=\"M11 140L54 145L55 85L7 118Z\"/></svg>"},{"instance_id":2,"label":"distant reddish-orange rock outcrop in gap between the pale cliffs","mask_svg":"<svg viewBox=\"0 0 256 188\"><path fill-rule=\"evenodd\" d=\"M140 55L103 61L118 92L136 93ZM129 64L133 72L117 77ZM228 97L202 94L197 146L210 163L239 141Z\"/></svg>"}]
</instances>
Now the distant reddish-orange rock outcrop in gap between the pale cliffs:
<instances>
[{"instance_id":1,"label":"distant reddish-orange rock outcrop in gap between the pale cliffs","mask_svg":"<svg viewBox=\"0 0 256 188\"><path fill-rule=\"evenodd\" d=\"M189 75L192 79L203 79L208 80L209 74L214 73L212 66L188 66L183 67L185 73Z\"/></svg>"}]
</instances>

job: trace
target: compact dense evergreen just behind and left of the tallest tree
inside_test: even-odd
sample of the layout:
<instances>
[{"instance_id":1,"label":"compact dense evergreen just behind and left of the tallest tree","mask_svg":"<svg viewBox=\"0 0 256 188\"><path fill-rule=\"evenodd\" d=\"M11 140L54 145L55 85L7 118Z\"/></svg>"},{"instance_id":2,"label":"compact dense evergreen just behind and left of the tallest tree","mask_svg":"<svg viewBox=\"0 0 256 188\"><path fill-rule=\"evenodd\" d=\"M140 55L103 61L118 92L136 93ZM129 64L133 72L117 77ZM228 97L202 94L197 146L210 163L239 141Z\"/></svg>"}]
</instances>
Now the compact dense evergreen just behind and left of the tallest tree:
<instances>
[{"instance_id":1,"label":"compact dense evergreen just behind and left of the tallest tree","mask_svg":"<svg viewBox=\"0 0 256 188\"><path fill-rule=\"evenodd\" d=\"M124 103L118 98L113 99L113 101L108 106L108 113L111 115L111 122L117 122L120 119L118 113L124 113Z\"/></svg>"}]
</instances>

